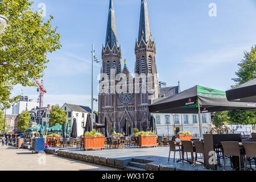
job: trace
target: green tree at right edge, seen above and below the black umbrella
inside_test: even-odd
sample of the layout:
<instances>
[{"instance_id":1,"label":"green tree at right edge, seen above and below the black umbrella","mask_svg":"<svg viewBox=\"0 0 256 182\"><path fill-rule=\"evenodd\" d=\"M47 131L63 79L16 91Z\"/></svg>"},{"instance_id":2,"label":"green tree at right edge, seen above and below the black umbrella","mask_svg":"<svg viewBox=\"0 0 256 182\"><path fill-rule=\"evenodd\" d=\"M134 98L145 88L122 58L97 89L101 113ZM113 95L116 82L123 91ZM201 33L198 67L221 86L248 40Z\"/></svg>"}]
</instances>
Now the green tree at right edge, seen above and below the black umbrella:
<instances>
[{"instance_id":1,"label":"green tree at right edge, seen above and below the black umbrella","mask_svg":"<svg viewBox=\"0 0 256 182\"><path fill-rule=\"evenodd\" d=\"M250 52L244 53L243 60L238 64L237 78L232 79L236 82L235 86L256 78L256 46L252 46ZM234 124L256 124L256 111L232 110L228 112L228 116Z\"/></svg>"}]
</instances>

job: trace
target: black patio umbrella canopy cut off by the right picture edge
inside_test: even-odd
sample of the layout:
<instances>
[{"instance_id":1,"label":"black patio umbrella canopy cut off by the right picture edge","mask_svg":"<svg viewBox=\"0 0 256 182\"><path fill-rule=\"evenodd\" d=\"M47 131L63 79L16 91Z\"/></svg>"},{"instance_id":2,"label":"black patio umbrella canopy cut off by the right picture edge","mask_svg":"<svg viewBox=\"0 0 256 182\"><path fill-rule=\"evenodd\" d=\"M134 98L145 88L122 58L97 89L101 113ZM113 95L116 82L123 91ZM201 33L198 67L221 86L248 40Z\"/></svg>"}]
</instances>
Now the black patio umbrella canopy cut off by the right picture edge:
<instances>
[{"instance_id":1,"label":"black patio umbrella canopy cut off by the right picture edge","mask_svg":"<svg viewBox=\"0 0 256 182\"><path fill-rule=\"evenodd\" d=\"M256 102L256 78L226 91L229 101Z\"/></svg>"}]
</instances>

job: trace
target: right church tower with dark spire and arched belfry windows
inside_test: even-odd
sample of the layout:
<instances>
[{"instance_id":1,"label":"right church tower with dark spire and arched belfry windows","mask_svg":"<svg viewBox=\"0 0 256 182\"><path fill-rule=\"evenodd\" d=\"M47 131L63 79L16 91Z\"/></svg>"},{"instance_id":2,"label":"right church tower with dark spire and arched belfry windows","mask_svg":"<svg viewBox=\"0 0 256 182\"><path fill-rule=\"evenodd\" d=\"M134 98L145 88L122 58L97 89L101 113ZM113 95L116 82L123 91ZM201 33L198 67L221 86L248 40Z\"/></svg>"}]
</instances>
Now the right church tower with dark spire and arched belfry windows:
<instances>
[{"instance_id":1,"label":"right church tower with dark spire and arched belfry windows","mask_svg":"<svg viewBox=\"0 0 256 182\"><path fill-rule=\"evenodd\" d=\"M135 73L141 74L152 74L152 81L148 82L151 84L150 90L142 90L147 92L148 104L151 104L151 100L160 97L158 75L156 71L155 63L156 45L155 40L152 40L150 31L150 22L148 18L147 0L141 0L141 16L139 19L139 36L135 42ZM143 88L142 88L143 89ZM143 96L144 97L144 96Z\"/></svg>"}]
</instances>

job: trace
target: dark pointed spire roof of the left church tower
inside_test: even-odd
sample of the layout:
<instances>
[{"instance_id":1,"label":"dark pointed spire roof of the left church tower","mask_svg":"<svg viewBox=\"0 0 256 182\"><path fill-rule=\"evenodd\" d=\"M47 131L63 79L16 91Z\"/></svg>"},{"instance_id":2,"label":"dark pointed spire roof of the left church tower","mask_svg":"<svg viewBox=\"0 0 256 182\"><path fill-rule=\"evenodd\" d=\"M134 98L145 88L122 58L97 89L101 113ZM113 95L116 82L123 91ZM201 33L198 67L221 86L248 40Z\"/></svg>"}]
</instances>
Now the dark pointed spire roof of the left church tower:
<instances>
[{"instance_id":1,"label":"dark pointed spire roof of the left church tower","mask_svg":"<svg viewBox=\"0 0 256 182\"><path fill-rule=\"evenodd\" d=\"M118 44L117 40L117 27L115 26L115 11L113 0L109 1L109 16L108 16L108 26L106 31L106 44L109 44L110 49L114 47L114 44ZM117 45L118 46L118 45Z\"/></svg>"}]
</instances>

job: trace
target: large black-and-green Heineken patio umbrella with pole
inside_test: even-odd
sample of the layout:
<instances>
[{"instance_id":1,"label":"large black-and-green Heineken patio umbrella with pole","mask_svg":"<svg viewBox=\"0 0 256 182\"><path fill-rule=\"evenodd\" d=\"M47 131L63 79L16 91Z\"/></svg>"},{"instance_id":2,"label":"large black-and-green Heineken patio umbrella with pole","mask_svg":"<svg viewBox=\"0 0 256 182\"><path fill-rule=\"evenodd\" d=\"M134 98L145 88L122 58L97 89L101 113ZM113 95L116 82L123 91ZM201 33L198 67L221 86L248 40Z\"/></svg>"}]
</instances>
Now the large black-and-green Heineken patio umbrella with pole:
<instances>
[{"instance_id":1,"label":"large black-and-green Heineken patio umbrella with pole","mask_svg":"<svg viewBox=\"0 0 256 182\"><path fill-rule=\"evenodd\" d=\"M255 103L229 102L224 91L196 85L148 106L148 110L150 113L195 113L200 116L201 113L254 109L255 107ZM199 128L202 136L201 117L199 117Z\"/></svg>"}]
</instances>

